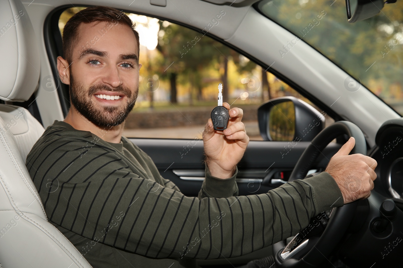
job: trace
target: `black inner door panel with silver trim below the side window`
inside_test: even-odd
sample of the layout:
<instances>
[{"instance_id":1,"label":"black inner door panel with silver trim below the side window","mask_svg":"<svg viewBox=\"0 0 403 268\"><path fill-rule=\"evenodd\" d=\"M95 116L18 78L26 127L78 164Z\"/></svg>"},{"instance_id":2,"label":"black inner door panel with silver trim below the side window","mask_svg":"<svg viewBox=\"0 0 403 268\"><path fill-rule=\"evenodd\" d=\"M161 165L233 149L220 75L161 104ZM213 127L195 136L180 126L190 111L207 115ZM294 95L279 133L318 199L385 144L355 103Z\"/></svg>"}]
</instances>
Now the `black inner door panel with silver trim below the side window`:
<instances>
[{"instance_id":1,"label":"black inner door panel with silver trim below the side window","mask_svg":"<svg viewBox=\"0 0 403 268\"><path fill-rule=\"evenodd\" d=\"M202 140L130 140L150 155L160 174L174 182L183 194L197 196L205 174ZM237 165L239 195L265 193L287 181L287 176L310 142L293 144L286 141L250 141ZM330 143L314 162L312 169L325 168L340 147L340 144ZM276 183L272 179L276 179Z\"/></svg>"}]
</instances>

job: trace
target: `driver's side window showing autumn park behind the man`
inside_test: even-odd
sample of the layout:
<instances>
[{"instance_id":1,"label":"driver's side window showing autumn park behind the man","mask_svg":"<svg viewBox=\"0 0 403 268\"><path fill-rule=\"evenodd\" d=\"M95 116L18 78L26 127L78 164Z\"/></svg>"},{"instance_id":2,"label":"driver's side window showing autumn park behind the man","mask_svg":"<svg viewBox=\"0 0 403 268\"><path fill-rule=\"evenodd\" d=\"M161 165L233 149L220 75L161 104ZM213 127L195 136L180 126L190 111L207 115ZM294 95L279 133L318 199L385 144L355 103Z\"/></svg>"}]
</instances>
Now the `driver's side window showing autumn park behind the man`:
<instances>
[{"instance_id":1,"label":"driver's side window showing autumn park behind the man","mask_svg":"<svg viewBox=\"0 0 403 268\"><path fill-rule=\"evenodd\" d=\"M61 34L67 20L82 9L62 12ZM203 31L126 14L137 25L142 63L138 98L125 121L126 137L200 139L217 106L219 83L223 84L224 102L243 109L242 121L251 140L263 140L257 120L257 109L263 102L295 96L313 105L276 76ZM216 23L222 16L224 11L217 14ZM334 122L328 116L326 119L326 125Z\"/></svg>"}]
</instances>

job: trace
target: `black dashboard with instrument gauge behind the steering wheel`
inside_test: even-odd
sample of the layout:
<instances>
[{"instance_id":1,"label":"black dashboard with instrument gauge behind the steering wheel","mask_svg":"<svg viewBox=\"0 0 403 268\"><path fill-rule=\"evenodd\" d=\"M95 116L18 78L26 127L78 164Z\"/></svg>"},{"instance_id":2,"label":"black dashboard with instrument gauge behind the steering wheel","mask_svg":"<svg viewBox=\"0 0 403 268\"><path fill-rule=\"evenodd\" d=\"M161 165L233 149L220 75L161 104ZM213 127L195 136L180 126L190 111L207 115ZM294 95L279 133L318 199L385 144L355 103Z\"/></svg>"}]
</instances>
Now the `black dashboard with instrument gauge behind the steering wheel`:
<instances>
[{"instance_id":1,"label":"black dashboard with instrument gauge behind the steering wheel","mask_svg":"<svg viewBox=\"0 0 403 268\"><path fill-rule=\"evenodd\" d=\"M368 151L378 163L374 190L369 198L356 202L337 253L349 267L401 267L397 264L403 246L398 244L403 233L403 118L383 123L375 143ZM396 249L391 251L388 246L393 242Z\"/></svg>"}]
</instances>

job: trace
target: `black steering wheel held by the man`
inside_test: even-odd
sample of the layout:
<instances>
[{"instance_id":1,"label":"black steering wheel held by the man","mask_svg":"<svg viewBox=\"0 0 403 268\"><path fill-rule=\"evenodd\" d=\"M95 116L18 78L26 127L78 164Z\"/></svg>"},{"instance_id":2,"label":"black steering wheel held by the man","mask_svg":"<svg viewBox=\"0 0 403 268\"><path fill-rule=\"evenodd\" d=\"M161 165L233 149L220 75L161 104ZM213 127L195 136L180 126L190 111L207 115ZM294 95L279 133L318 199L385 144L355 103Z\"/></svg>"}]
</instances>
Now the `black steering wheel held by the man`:
<instances>
[{"instance_id":1,"label":"black steering wheel held by the man","mask_svg":"<svg viewBox=\"0 0 403 268\"><path fill-rule=\"evenodd\" d=\"M350 154L367 154L366 141L361 129L351 122L338 121L323 129L311 141L311 144L305 149L299 158L288 181L291 182L293 180L303 179L322 150L333 139L343 134L355 138L355 146ZM322 235L320 235L319 239L311 239L311 241L306 239L295 248L287 250L287 254L281 254L285 249L285 243L283 241L275 243L273 245L273 255L276 261L276 267L318 267L326 260L336 245L341 241L349 223L353 219L356 208L357 201L343 205L342 207L334 208L330 214L326 229ZM295 241L291 241L289 245L287 245L289 249L291 248L291 243L294 243L293 245L295 245ZM300 254L298 254L298 252L300 252ZM301 257L301 255L303 255L302 252L307 253Z\"/></svg>"}]
</instances>

